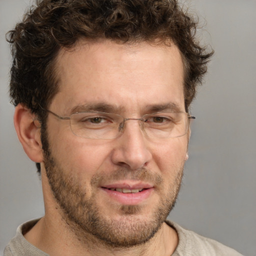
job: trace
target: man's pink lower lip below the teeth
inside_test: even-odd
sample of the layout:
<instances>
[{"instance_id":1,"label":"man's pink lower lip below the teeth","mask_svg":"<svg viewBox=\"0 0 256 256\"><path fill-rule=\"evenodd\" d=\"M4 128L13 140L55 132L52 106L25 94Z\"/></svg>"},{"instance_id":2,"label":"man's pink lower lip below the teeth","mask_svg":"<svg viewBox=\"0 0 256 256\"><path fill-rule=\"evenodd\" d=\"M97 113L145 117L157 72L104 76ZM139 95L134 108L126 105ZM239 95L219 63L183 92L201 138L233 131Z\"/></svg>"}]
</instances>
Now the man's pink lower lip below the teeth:
<instances>
[{"instance_id":1,"label":"man's pink lower lip below the teeth","mask_svg":"<svg viewBox=\"0 0 256 256\"><path fill-rule=\"evenodd\" d=\"M121 204L126 205L136 205L141 202L143 202L145 199L147 199L151 192L153 191L153 187L144 189L137 193L122 193L115 190L110 190L104 187L101 187L106 194L116 201L118 201Z\"/></svg>"}]
</instances>

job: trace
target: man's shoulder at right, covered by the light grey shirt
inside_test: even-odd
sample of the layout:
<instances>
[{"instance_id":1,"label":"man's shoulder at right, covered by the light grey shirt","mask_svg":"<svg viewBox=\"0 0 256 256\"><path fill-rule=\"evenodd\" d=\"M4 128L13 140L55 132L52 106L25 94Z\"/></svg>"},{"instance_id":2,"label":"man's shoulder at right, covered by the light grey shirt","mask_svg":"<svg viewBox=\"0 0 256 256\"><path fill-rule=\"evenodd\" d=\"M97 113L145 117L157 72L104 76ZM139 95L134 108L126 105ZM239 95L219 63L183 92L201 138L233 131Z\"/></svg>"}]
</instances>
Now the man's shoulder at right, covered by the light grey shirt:
<instances>
[{"instance_id":1,"label":"man's shoulder at right, covered by the light grey shirt","mask_svg":"<svg viewBox=\"0 0 256 256\"><path fill-rule=\"evenodd\" d=\"M184 229L172 221L166 220L166 223L173 227L178 234L178 246L172 254L173 256L242 256L242 254L234 249L227 247L218 241Z\"/></svg>"}]
</instances>

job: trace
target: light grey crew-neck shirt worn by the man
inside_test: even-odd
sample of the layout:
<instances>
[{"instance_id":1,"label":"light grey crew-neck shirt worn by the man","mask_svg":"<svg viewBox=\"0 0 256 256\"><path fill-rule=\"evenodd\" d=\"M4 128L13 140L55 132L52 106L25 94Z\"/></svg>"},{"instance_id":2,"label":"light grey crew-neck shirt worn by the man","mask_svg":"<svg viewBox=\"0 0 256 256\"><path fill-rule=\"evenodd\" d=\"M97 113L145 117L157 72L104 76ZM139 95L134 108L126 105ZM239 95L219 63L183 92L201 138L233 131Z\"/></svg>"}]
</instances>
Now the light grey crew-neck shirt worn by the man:
<instances>
[{"instance_id":1,"label":"light grey crew-neck shirt worn by the man","mask_svg":"<svg viewBox=\"0 0 256 256\"><path fill-rule=\"evenodd\" d=\"M6 245L3 256L48 256L45 252L29 243L22 233L26 233L38 219L28 221L17 228L16 235ZM193 231L186 230L178 224L166 220L166 223L176 229L178 246L170 256L242 256L237 251Z\"/></svg>"}]
</instances>

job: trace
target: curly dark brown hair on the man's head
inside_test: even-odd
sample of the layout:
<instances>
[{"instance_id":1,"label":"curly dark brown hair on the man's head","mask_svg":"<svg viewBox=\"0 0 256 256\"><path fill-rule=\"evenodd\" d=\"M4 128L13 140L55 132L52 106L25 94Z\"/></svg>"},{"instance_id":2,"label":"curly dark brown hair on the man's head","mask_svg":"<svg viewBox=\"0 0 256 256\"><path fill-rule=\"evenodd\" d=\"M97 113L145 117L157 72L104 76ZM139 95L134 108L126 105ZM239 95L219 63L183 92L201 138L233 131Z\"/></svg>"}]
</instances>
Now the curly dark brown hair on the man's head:
<instances>
[{"instance_id":1,"label":"curly dark brown hair on the man's head","mask_svg":"<svg viewBox=\"0 0 256 256\"><path fill-rule=\"evenodd\" d=\"M47 108L58 90L56 55L60 47L71 47L80 38L119 43L171 40L183 58L188 111L213 53L197 42L196 25L176 0L36 0L7 34L13 56L12 103L42 116L39 106Z\"/></svg>"}]
</instances>

